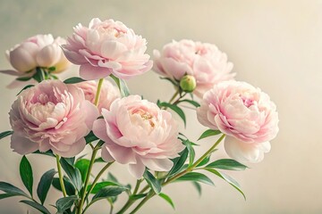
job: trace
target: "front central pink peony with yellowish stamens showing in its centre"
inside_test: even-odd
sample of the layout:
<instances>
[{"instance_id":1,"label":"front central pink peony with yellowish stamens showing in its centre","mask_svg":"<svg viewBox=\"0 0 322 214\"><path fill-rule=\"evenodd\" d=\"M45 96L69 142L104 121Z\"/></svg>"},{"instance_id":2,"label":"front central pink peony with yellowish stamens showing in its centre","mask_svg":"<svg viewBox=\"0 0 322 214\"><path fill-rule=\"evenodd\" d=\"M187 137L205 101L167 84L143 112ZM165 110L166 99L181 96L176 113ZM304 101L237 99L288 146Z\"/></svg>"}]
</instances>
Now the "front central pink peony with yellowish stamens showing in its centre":
<instances>
[{"instance_id":1,"label":"front central pink peony with yellowish stamens showing in its centre","mask_svg":"<svg viewBox=\"0 0 322 214\"><path fill-rule=\"evenodd\" d=\"M169 159L178 156L184 146L178 140L178 125L168 111L157 104L130 95L103 109L104 119L97 119L93 132L106 143L102 147L105 161L129 164L131 175L142 177L146 167L168 171Z\"/></svg>"}]
</instances>

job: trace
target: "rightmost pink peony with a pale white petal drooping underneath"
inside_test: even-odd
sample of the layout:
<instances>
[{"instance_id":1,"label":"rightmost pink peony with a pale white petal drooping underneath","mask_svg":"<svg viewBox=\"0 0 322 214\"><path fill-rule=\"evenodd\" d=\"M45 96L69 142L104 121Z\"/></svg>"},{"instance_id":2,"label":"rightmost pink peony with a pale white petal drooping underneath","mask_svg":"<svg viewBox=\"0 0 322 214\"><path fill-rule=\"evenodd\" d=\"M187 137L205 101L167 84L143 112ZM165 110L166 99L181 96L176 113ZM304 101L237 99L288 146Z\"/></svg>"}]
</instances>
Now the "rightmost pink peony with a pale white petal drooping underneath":
<instances>
[{"instance_id":1,"label":"rightmost pink peony with a pale white petal drooping underneath","mask_svg":"<svg viewBox=\"0 0 322 214\"><path fill-rule=\"evenodd\" d=\"M226 135L229 156L262 161L278 132L276 106L267 94L245 82L225 81L209 90L200 104L199 122Z\"/></svg>"}]
</instances>

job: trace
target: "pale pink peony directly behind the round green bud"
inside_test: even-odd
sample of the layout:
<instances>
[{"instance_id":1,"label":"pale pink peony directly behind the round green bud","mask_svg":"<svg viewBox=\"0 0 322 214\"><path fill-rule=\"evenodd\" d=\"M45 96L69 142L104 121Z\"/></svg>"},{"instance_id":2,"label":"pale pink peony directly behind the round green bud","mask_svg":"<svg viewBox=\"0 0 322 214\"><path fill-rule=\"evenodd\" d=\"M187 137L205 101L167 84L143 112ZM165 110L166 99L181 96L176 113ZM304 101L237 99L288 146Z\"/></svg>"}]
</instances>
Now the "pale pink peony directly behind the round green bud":
<instances>
[{"instance_id":1,"label":"pale pink peony directly behind the round green bud","mask_svg":"<svg viewBox=\"0 0 322 214\"><path fill-rule=\"evenodd\" d=\"M233 63L216 45L183 39L166 44L160 53L154 50L153 70L180 81L186 74L196 78L195 95L202 95L215 84L233 79Z\"/></svg>"}]
</instances>

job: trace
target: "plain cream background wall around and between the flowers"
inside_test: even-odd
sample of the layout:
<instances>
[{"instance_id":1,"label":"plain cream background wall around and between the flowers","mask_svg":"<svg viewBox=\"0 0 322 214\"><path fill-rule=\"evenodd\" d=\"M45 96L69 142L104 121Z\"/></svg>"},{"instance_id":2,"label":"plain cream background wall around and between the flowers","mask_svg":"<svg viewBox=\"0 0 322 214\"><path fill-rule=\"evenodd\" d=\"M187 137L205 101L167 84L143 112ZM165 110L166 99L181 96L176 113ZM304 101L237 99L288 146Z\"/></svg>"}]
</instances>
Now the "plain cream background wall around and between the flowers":
<instances>
[{"instance_id":1,"label":"plain cream background wall around and between the flowers","mask_svg":"<svg viewBox=\"0 0 322 214\"><path fill-rule=\"evenodd\" d=\"M279 111L280 133L264 161L244 172L229 172L242 185L246 202L233 187L214 177L216 187L203 185L201 197L188 183L165 187L164 192L176 203L175 211L155 197L139 213L322 212L322 1L3 0L0 52L38 33L67 37L73 26L79 22L87 25L93 17L123 21L147 38L148 53L172 39L191 38L218 45L234 63L237 79L261 87ZM11 68L4 55L0 68ZM77 69L75 66L74 73L64 73L64 78L77 74ZM19 91L4 87L12 79L0 76L0 131L10 128L7 112ZM173 93L171 86L159 81L152 71L132 79L129 86L132 94L152 101L168 100ZM206 128L198 125L193 111L188 114L185 133L196 139ZM209 141L200 142L199 154L210 146ZM0 180L22 187L21 156L11 152L9 138L1 145ZM225 152L217 152L216 157L226 157ZM45 170L55 166L50 158L29 158L37 182ZM133 182L126 169L114 165L111 170L122 182ZM61 194L55 190L50 193L48 202L54 204L53 199ZM18 202L18 198L0 201L0 213L27 213L27 209L37 213ZM104 206L107 208L106 202L97 203L89 211L106 213Z\"/></svg>"}]
</instances>

